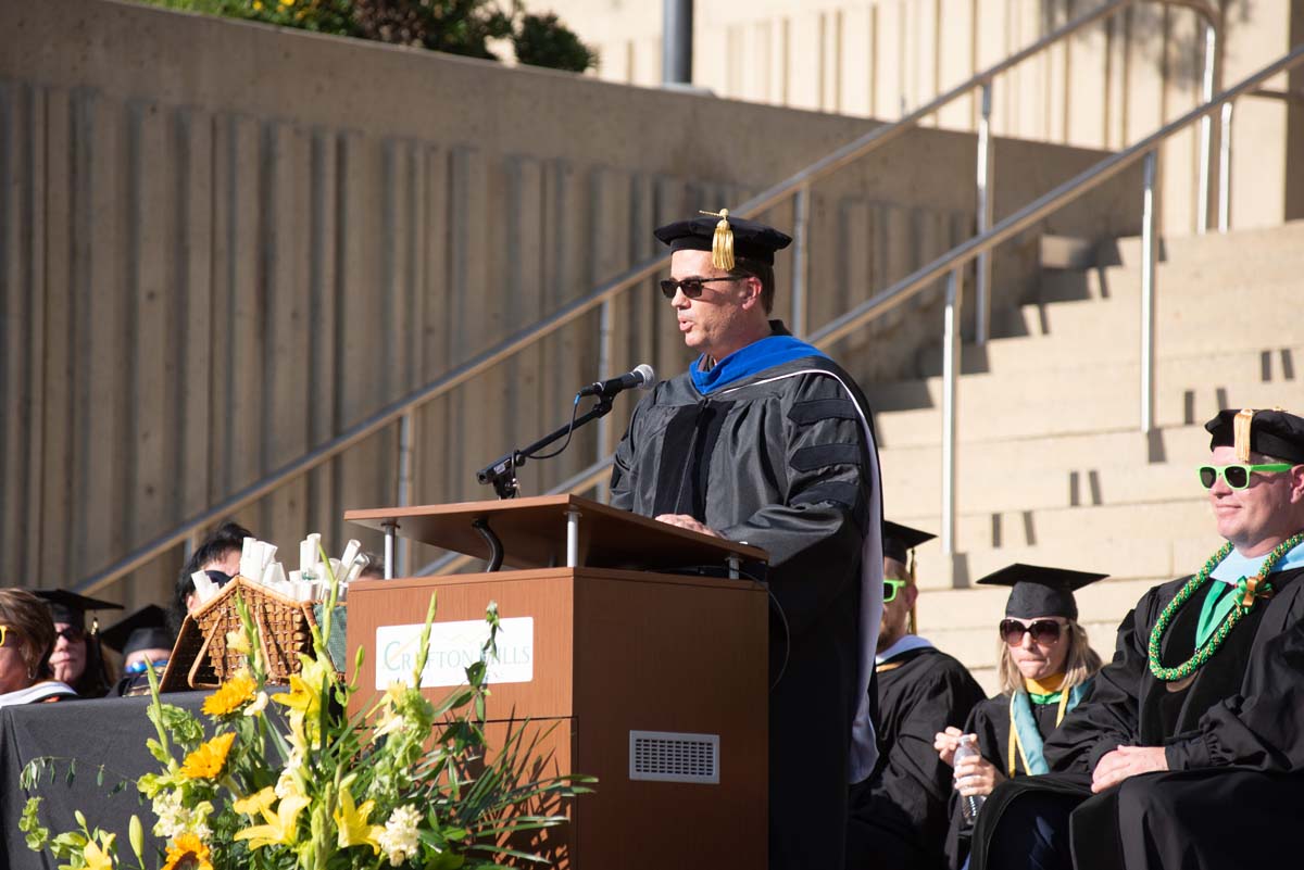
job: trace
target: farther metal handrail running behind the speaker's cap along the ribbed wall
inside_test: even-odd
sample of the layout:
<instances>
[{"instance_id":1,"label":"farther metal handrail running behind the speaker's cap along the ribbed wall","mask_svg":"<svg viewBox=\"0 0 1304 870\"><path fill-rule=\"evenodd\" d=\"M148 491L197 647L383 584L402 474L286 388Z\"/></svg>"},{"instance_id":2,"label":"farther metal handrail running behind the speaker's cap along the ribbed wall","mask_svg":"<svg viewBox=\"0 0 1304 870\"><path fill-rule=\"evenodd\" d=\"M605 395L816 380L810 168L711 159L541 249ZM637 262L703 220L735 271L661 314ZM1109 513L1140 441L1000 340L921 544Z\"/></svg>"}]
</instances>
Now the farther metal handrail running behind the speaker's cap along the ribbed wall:
<instances>
[{"instance_id":1,"label":"farther metal handrail running behind the speaker's cap along the ribbed wall","mask_svg":"<svg viewBox=\"0 0 1304 870\"><path fill-rule=\"evenodd\" d=\"M991 150L990 150L990 109L991 109L991 82L1000 74L1018 65L1020 63L1041 53L1042 51L1050 48L1051 46L1067 39L1068 36L1078 33L1080 30L1103 20L1111 17L1123 9L1132 7L1137 3L1153 1L1161 3L1163 5L1176 5L1183 8L1193 9L1200 14L1206 25L1206 39L1209 46L1217 46L1217 33L1218 33L1218 13L1210 3L1205 0L1111 0L1091 12L1088 12L1073 21L1060 26L1059 29L1051 31L1050 34L1042 36L1039 40L1015 52L1003 61L990 66L966 82L957 85L945 94L939 95L931 102L918 107L906 116L891 122L883 124L874 130L870 130L865 135L857 138L853 142L837 148L829 155L816 160L805 169L801 169L795 175L790 176L785 181L773 185L772 188L762 191L760 194L752 197L747 202L742 203L738 208L732 210L743 218L755 216L767 208L772 208L788 199L795 201L795 211L798 215L798 225L795 227L794 236L797 237L797 250L794 257L794 270L793 270L793 318L792 323L794 326L794 332L802 335L805 332L805 313L806 313L806 258L805 258L805 238L806 238L806 221L810 214L810 188L816 181L837 172L842 167L850 164L852 161L870 154L875 148L891 142L902 133L914 129L918 124L936 113L938 111L945 108L952 102L968 95L974 89L982 89L982 108L983 108L983 122L979 126L979 169L978 169L978 232L985 233L988 229L991 220L990 197L986 191L990 186L991 178ZM1213 81L1215 77L1214 60L1215 51L1206 51L1206 81ZM1226 129L1223 130L1226 138ZM1208 154L1205 155L1208 158ZM1202 167L1201 178L1208 180L1208 167ZM983 249L981 257L986 258L990 249ZM411 439L412 439L412 414L429 401L443 396L445 393L452 391L458 386L466 383L471 378L486 371L488 369L498 365L499 362L507 359L512 354L523 350L535 343L550 336L557 330L571 323L572 320L583 316L595 307L604 309L604 323L609 319L609 303L614 297L627 289L636 287L640 281L656 275L659 271L666 268L669 264L669 255L659 255L647 259L635 267L630 268L618 277L606 281L600 285L596 290L588 296L580 297L574 302L563 306L557 313L539 320L531 327L527 327L505 341L481 352L480 354L472 357L469 361L455 367L449 374L438 378L426 387L409 393L408 396L394 401L381 410L376 412L370 417L363 419L360 423L347 428L340 435L335 436L330 442L313 448L304 456L271 471L267 477L259 479L250 486L239 490L237 492L230 495L219 504L209 508L203 513L188 520L186 522L176 526L171 531L167 531L146 544L137 547L134 551L117 560L108 568L91 574L89 578L82 581L76 586L76 591L81 594L91 594L98 589L126 576L128 573L146 565L153 559L156 559L164 551L193 542L194 538L207 526L214 522L248 507L249 504L257 501L258 499L269 495L279 486L306 474L318 465L330 461L338 455L343 453L346 449L357 444L359 442L379 432L382 428L400 423L400 444L399 444L399 503L407 504L407 499L411 496L411 462L406 461L409 457ZM979 332L978 337L981 341L986 340L986 283L990 281L990 263L983 259L979 263L979 280L978 280L978 307L979 307ZM897 285L893 287L898 287ZM883 294L875 297L880 298ZM872 300L871 300L872 301ZM857 311L863 310L863 305ZM841 323L846 319L838 318L835 323ZM827 335L828 327L820 330L816 335ZM610 330L600 330L600 352L601 358L610 358L609 353ZM599 451L600 458L605 455L605 438L599 438Z\"/></svg>"}]
</instances>

